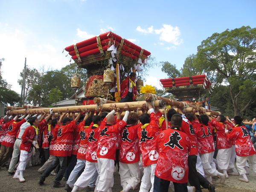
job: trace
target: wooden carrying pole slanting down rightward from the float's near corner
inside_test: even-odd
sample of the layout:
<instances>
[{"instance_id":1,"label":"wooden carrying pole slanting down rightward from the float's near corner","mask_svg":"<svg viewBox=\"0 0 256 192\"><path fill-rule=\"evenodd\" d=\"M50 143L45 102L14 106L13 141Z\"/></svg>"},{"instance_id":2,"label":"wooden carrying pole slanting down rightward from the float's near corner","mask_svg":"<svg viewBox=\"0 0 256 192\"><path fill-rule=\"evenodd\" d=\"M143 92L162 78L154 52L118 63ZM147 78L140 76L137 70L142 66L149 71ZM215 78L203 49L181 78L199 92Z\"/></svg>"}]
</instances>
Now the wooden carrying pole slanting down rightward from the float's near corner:
<instances>
[{"instance_id":1,"label":"wooden carrying pole slanting down rightward from the float's near corner","mask_svg":"<svg viewBox=\"0 0 256 192\"><path fill-rule=\"evenodd\" d=\"M148 94L150 94L150 93L145 93L144 98L148 97ZM202 108L202 107L198 107L198 106L195 106L195 105L188 104L186 102L179 102L179 101L172 100L172 103L170 103L169 98L165 98L165 97L161 97L161 96L157 96L157 95L154 95L154 96L157 97L157 99L162 99L166 103L166 105L176 106L177 108L190 107L190 108L193 108L197 111L201 110L201 111L205 111L205 112L210 112L210 113L212 113L213 115L216 115L216 116L221 114L221 112L219 112L219 111L212 111L212 110L209 110L209 109L205 109L205 108Z\"/></svg>"}]
</instances>

